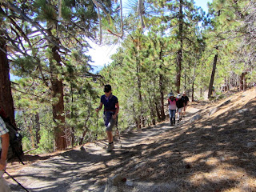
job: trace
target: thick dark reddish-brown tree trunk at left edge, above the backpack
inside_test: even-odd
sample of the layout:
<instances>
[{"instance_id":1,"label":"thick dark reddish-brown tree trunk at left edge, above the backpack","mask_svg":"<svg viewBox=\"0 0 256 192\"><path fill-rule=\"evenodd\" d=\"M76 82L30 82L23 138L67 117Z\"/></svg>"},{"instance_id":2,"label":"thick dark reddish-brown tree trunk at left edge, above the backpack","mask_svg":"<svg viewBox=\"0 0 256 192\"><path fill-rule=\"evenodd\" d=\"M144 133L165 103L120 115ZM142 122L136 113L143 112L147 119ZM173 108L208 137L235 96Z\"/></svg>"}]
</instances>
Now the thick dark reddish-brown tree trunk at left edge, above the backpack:
<instances>
[{"instance_id":1,"label":"thick dark reddish-brown tree trunk at left edge, above the backpack","mask_svg":"<svg viewBox=\"0 0 256 192\"><path fill-rule=\"evenodd\" d=\"M0 106L10 118L10 122L15 125L14 100L10 87L10 68L7 59L6 41L0 38Z\"/></svg>"}]
</instances>

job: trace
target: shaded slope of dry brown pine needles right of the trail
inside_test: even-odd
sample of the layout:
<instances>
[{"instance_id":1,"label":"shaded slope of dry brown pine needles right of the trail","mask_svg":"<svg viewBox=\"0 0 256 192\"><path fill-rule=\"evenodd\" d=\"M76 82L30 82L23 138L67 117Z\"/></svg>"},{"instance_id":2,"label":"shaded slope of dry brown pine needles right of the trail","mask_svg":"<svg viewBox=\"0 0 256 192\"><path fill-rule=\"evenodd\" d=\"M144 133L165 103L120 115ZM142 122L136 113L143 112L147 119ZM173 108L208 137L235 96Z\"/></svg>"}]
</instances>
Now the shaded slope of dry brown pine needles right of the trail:
<instances>
[{"instance_id":1,"label":"shaded slope of dry brown pine needles right of the trail","mask_svg":"<svg viewBox=\"0 0 256 192\"><path fill-rule=\"evenodd\" d=\"M134 170L133 162L125 172L147 182L175 181L180 191L256 191L256 146L247 146L256 144L255 93L247 90L204 106L192 104L202 109L203 118L147 141L135 162L142 166ZM238 114L242 109L247 110Z\"/></svg>"}]
</instances>

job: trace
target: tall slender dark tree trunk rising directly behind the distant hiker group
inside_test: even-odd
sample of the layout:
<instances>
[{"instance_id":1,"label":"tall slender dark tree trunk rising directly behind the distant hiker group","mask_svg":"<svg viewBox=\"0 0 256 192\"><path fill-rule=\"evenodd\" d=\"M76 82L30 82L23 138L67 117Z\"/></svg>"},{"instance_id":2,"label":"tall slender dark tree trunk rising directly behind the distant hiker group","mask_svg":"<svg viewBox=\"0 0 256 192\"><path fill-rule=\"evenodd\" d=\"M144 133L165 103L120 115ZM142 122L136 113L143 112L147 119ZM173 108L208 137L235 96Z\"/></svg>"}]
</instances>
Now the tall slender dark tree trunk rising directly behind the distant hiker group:
<instances>
[{"instance_id":1,"label":"tall slender dark tree trunk rising directly behind the distant hiker group","mask_svg":"<svg viewBox=\"0 0 256 192\"><path fill-rule=\"evenodd\" d=\"M181 42L181 47L178 50L177 55L177 74L176 74L176 87L177 93L179 94L181 88L181 77L182 77L182 49L183 49L183 1L179 1L179 13L178 13L178 38Z\"/></svg>"}]
</instances>

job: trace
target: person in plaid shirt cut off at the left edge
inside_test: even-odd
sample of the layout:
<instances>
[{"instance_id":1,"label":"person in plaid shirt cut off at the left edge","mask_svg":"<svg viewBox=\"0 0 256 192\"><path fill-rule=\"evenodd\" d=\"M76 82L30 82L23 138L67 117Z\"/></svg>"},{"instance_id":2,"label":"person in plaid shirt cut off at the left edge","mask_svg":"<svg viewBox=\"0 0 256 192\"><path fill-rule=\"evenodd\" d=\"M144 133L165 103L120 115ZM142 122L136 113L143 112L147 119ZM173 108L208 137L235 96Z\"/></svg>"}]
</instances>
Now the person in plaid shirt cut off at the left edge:
<instances>
[{"instance_id":1,"label":"person in plaid shirt cut off at the left edge","mask_svg":"<svg viewBox=\"0 0 256 192\"><path fill-rule=\"evenodd\" d=\"M0 191L7 192L10 191L10 188L6 182L6 180L2 177L6 170L6 159L9 149L9 130L6 128L5 122L2 120L0 116Z\"/></svg>"}]
</instances>

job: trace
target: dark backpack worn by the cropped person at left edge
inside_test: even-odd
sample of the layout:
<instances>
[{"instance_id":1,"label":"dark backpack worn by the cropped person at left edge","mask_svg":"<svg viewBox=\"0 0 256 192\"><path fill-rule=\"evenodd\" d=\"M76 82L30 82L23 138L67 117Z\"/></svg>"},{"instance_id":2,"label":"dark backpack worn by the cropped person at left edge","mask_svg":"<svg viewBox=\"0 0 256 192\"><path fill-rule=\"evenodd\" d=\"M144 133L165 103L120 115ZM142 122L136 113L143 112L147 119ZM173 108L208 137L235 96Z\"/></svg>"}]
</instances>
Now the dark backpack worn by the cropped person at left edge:
<instances>
[{"instance_id":1,"label":"dark backpack worn by the cropped person at left edge","mask_svg":"<svg viewBox=\"0 0 256 192\"><path fill-rule=\"evenodd\" d=\"M9 130L10 145L7 154L7 160L17 157L19 162L22 162L24 155L22 150L22 134L18 133L18 128L15 127L8 118L2 120L6 123L6 128ZM22 162L24 165L24 163Z\"/></svg>"}]
</instances>

